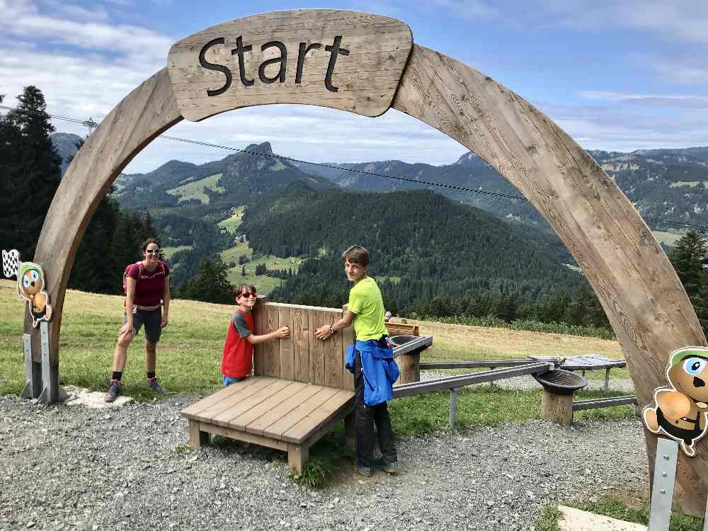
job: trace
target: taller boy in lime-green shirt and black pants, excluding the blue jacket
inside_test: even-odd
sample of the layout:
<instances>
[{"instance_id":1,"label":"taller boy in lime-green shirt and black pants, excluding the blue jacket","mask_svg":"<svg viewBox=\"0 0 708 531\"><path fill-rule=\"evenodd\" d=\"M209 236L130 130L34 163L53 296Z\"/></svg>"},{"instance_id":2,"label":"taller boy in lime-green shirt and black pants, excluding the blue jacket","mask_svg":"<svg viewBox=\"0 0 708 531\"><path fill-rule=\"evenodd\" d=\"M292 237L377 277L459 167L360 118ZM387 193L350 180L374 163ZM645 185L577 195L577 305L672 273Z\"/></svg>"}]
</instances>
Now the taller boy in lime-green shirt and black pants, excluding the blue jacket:
<instances>
[{"instance_id":1,"label":"taller boy in lime-green shirt and black pants, excluding the blue jacket","mask_svg":"<svg viewBox=\"0 0 708 531\"><path fill-rule=\"evenodd\" d=\"M376 341L381 348L387 348L388 331L384 324L384 302L376 281L367 276L369 251L353 245L342 253L344 273L354 287L349 292L349 306L344 316L331 326L325 324L316 329L314 335L322 340L336 331L354 323L357 341ZM376 406L364 404L364 373L361 353L355 351L354 367L355 419L356 419L356 469L362 476L371 475L371 467L395 474L398 459L394 433L391 427L389 409L384 401ZM376 425L382 458L374 459L374 425Z\"/></svg>"}]
</instances>

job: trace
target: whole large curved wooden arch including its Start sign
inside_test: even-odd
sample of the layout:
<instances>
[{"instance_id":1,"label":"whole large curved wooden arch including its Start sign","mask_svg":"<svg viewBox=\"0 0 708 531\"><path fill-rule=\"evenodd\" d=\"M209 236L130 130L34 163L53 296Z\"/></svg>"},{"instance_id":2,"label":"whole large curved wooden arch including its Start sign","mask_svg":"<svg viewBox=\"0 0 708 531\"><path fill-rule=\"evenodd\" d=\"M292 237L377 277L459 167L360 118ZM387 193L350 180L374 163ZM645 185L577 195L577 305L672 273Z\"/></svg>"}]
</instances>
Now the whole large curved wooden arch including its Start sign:
<instances>
[{"instance_id":1,"label":"whole large curved wooden arch including its Start sign","mask_svg":"<svg viewBox=\"0 0 708 531\"><path fill-rule=\"evenodd\" d=\"M479 154L530 200L581 265L622 346L639 406L666 383L671 351L707 345L673 267L632 203L554 122L489 76L413 45L400 21L296 10L238 19L176 43L168 67L121 101L81 148L52 201L34 258L45 268L55 309L52 363L59 359L76 250L122 169L183 117L202 120L266 103L369 116L392 107ZM25 332L36 336L28 320ZM645 430L645 437L651 470L656 436ZM695 515L703 515L708 493L702 444L697 457L680 455L677 471L675 503Z\"/></svg>"}]
</instances>

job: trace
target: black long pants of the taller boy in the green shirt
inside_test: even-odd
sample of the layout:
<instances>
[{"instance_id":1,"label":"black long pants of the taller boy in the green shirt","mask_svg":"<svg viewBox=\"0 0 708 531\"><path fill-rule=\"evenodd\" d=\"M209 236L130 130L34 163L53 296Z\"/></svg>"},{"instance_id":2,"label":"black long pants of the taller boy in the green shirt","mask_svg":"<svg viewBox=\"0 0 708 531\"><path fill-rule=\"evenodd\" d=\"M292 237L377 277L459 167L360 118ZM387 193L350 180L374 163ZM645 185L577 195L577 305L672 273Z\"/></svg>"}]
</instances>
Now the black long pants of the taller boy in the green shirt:
<instances>
[{"instance_id":1,"label":"black long pants of the taller boy in the green shirt","mask_svg":"<svg viewBox=\"0 0 708 531\"><path fill-rule=\"evenodd\" d=\"M358 350L355 353L354 362L354 392L356 459L358 463L370 467L374 460L374 424L376 424L381 454L387 462L395 462L397 458L394 430L391 428L391 418L386 402L377 406L364 405L364 373L361 370L361 354Z\"/></svg>"}]
</instances>

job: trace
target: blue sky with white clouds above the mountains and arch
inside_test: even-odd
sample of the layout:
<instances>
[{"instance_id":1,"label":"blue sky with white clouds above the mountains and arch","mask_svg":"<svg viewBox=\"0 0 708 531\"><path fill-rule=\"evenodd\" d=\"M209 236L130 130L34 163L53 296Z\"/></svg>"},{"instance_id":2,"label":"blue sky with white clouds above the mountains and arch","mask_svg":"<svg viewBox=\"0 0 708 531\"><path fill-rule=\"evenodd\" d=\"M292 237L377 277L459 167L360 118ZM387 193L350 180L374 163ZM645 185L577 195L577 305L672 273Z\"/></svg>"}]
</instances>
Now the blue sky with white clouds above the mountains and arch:
<instances>
[{"instance_id":1,"label":"blue sky with white clouds above the mountains and arch","mask_svg":"<svg viewBox=\"0 0 708 531\"><path fill-rule=\"evenodd\" d=\"M707 145L708 3L674 0L384 0L205 2L0 0L0 93L45 93L48 111L101 120L164 67L169 47L207 26L290 8L343 8L399 18L414 42L492 76L531 101L586 149ZM55 122L57 131L86 130ZM325 108L248 108L170 135L246 147L266 140L310 161L400 159L448 164L466 150L389 110L365 118ZM225 156L158 139L127 171L170 159Z\"/></svg>"}]
</instances>

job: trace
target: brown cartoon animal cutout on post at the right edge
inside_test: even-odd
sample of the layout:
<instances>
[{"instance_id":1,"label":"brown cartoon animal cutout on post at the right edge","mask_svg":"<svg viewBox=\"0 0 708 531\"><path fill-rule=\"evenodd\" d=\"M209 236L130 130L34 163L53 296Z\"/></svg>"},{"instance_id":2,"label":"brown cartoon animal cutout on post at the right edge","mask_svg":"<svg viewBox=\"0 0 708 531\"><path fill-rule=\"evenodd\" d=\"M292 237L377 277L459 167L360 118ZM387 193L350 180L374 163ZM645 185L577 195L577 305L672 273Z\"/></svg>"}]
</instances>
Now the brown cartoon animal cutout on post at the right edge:
<instances>
[{"instance_id":1,"label":"brown cartoon animal cutout on post at the right edge","mask_svg":"<svg viewBox=\"0 0 708 531\"><path fill-rule=\"evenodd\" d=\"M671 387L655 389L656 407L644 408L644 423L652 433L678 441L681 450L693 457L696 441L708 431L708 348L674 350L666 377Z\"/></svg>"}]
</instances>

